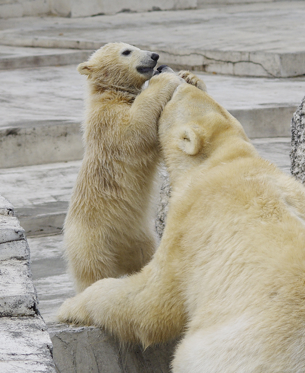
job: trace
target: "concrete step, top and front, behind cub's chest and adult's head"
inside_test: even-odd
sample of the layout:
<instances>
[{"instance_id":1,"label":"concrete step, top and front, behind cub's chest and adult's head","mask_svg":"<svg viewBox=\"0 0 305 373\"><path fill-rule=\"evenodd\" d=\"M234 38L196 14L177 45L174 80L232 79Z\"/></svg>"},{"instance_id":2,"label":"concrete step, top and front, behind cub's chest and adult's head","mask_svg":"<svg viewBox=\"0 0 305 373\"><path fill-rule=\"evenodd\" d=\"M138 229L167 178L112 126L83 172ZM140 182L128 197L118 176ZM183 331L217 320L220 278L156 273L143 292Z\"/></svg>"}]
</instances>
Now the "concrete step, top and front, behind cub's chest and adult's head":
<instances>
[{"instance_id":1,"label":"concrete step, top and front, behind cub's chest and adult's head","mask_svg":"<svg viewBox=\"0 0 305 373\"><path fill-rule=\"evenodd\" d=\"M305 77L199 75L250 138L290 136L292 115L305 93ZM82 158L79 125L85 78L75 65L0 71L0 82L0 168Z\"/></svg>"}]
</instances>

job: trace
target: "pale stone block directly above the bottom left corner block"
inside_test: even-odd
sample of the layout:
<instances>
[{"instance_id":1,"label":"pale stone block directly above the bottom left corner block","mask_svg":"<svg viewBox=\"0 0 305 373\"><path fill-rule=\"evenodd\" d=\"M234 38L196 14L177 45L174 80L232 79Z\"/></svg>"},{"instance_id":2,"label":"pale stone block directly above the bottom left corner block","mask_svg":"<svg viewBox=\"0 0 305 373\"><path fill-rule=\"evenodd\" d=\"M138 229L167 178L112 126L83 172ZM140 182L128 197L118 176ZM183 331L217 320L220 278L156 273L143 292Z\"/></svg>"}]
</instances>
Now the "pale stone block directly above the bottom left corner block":
<instances>
[{"instance_id":1,"label":"pale stone block directly above the bottom left corner block","mask_svg":"<svg viewBox=\"0 0 305 373\"><path fill-rule=\"evenodd\" d=\"M36 290L27 260L8 259L0 262L0 317L35 316Z\"/></svg>"}]
</instances>

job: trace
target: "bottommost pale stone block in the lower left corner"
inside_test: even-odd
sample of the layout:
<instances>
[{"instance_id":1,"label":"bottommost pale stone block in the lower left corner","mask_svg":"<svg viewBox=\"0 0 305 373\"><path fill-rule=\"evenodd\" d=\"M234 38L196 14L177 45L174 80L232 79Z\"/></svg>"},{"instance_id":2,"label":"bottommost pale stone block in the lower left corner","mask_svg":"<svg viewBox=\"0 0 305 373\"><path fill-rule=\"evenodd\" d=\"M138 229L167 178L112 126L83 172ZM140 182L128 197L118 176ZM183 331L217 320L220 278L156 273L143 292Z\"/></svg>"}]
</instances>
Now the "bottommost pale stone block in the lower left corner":
<instances>
[{"instance_id":1,"label":"bottommost pale stone block in the lower left corner","mask_svg":"<svg viewBox=\"0 0 305 373\"><path fill-rule=\"evenodd\" d=\"M0 317L0 372L56 373L41 317Z\"/></svg>"}]
</instances>

